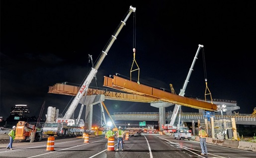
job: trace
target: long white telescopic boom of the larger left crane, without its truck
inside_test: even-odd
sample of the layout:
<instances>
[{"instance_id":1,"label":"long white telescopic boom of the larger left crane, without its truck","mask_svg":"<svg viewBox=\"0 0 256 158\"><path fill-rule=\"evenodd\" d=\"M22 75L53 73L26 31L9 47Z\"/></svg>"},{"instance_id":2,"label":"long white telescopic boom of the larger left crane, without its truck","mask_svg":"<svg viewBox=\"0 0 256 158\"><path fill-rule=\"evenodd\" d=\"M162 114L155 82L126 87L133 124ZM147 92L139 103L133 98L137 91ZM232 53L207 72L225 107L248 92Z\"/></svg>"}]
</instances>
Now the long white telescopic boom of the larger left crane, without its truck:
<instances>
[{"instance_id":1,"label":"long white telescopic boom of the larger left crane, without its truck","mask_svg":"<svg viewBox=\"0 0 256 158\"><path fill-rule=\"evenodd\" d=\"M95 67L91 68L88 76L86 77L84 83L82 84L80 90L78 91L76 97L74 98L74 100L72 101L69 109L67 110L66 114L64 115L64 119L70 119L71 116L73 115L74 111L76 110L80 100L82 99L82 97L86 96L87 91L88 91L88 87L90 82L92 81L93 77L96 75L97 70L99 68L99 66L101 65L101 63L103 62L104 58L106 57L109 49L111 48L112 44L114 43L114 41L116 40L116 37L118 36L119 32L121 31L121 29L123 28L123 26L125 25L125 22L127 21L127 19L129 18L129 16L131 15L132 12L135 12L136 8L130 6L129 11L125 17L125 19L123 21L120 22L118 28L116 29L116 32L114 33L114 35L111 36L110 38L110 42L107 44L107 46L102 50L101 55L99 57L99 60L96 62Z\"/></svg>"}]
</instances>

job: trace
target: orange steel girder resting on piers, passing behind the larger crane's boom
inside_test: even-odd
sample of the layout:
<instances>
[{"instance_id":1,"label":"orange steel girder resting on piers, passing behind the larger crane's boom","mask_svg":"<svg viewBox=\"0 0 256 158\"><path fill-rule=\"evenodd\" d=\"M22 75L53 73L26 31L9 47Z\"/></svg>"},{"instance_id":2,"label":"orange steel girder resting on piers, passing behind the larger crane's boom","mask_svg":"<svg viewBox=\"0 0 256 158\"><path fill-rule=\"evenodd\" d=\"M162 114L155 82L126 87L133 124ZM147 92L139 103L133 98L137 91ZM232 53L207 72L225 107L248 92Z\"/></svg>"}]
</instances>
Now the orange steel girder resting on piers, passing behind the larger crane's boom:
<instances>
[{"instance_id":1,"label":"orange steel girder resting on piers, passing behind the larger crane's boom","mask_svg":"<svg viewBox=\"0 0 256 158\"><path fill-rule=\"evenodd\" d=\"M76 96L77 91L79 89L80 87L78 86L56 83L53 86L49 86L48 93ZM147 103L158 101L157 100L158 98L156 97L145 97L145 96L130 94L130 93L113 92L113 91L108 91L107 89L100 90L100 89L88 88L87 95L96 95L96 94L103 94L105 96L105 99L108 99L108 100L122 100L122 101L134 101L134 102L136 101L136 102L147 102Z\"/></svg>"}]
</instances>

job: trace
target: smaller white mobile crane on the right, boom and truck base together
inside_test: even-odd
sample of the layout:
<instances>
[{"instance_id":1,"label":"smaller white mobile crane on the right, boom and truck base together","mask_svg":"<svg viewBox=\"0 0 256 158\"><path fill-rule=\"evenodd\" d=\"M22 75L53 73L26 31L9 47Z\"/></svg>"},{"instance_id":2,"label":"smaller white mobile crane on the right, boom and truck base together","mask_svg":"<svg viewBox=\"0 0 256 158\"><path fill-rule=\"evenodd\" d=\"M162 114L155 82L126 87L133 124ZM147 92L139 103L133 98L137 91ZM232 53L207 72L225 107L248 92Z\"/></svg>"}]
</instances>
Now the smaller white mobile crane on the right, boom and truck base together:
<instances>
[{"instance_id":1,"label":"smaller white mobile crane on the right, boom and truck base together","mask_svg":"<svg viewBox=\"0 0 256 158\"><path fill-rule=\"evenodd\" d=\"M189 82L190 75L192 73L195 61L197 59L198 53L199 53L201 48L203 48L203 45L199 44L198 45L198 49L197 49L196 54L195 54L195 57L194 57L194 60L192 62L192 65L191 65L191 67L189 69L189 72L187 74L187 77L186 77L186 79L184 81L183 87L182 87L182 89L180 89L180 92L178 94L180 96L184 96L185 95L186 86L187 86L187 84ZM178 112L179 112L179 115L180 115L180 110L181 110L181 105L175 104L175 106L173 108L173 111L172 111L172 115L171 115L171 122L170 122L170 124L162 125L162 129L163 130L168 130L168 132L172 132L172 133L176 132L176 130L179 128L180 116L179 116L179 120L178 120L177 126L174 125L174 122L176 120Z\"/></svg>"}]
</instances>

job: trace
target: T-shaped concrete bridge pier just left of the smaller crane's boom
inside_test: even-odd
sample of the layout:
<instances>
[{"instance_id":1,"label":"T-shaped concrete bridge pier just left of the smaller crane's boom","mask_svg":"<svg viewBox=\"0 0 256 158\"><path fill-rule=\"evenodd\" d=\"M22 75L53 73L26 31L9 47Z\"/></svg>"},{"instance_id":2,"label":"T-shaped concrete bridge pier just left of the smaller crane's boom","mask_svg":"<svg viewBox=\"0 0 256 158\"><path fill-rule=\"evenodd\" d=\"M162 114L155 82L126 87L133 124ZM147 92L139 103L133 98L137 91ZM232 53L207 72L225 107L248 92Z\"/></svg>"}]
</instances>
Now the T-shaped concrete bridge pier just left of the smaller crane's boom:
<instances>
[{"instance_id":1,"label":"T-shaped concrete bridge pier just left of the smaller crane's boom","mask_svg":"<svg viewBox=\"0 0 256 158\"><path fill-rule=\"evenodd\" d=\"M155 102L155 103L150 103L150 105L153 107L159 108L159 127L160 127L160 130L162 130L161 125L166 124L166 107L169 107L174 104L170 102Z\"/></svg>"}]
</instances>

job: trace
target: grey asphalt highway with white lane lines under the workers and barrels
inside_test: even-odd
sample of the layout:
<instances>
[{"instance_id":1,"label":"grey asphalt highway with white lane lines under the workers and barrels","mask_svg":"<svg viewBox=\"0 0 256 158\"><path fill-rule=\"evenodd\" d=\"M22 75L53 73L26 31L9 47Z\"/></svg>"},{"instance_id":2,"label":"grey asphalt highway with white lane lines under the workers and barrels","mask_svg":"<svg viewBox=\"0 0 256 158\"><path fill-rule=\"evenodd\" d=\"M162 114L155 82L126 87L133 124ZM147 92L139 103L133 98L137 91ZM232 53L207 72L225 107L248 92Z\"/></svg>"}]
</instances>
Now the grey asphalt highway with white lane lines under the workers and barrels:
<instances>
[{"instance_id":1,"label":"grey asphalt highway with white lane lines under the workers and barrels","mask_svg":"<svg viewBox=\"0 0 256 158\"><path fill-rule=\"evenodd\" d=\"M177 140L171 136L143 133L124 141L124 151L107 150L105 136L55 138L54 149L47 150L47 138L41 142L13 143L13 150L0 144L0 158L255 158L256 152L207 144L209 155L201 156L199 142ZM115 139L115 149L117 139ZM120 147L119 147L120 149Z\"/></svg>"}]
</instances>

